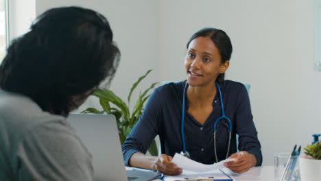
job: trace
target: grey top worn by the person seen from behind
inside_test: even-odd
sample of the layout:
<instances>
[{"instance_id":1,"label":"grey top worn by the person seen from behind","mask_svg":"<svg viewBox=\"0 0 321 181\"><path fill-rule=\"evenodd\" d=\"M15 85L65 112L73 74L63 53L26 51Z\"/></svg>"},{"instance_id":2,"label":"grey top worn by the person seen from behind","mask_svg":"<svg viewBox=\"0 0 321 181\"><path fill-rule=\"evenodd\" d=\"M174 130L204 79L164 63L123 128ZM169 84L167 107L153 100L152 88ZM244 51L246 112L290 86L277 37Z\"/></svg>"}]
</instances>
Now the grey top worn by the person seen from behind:
<instances>
[{"instance_id":1,"label":"grey top worn by the person seen from behind","mask_svg":"<svg viewBox=\"0 0 321 181\"><path fill-rule=\"evenodd\" d=\"M93 180L92 157L64 117L0 90L0 180Z\"/></svg>"}]
</instances>

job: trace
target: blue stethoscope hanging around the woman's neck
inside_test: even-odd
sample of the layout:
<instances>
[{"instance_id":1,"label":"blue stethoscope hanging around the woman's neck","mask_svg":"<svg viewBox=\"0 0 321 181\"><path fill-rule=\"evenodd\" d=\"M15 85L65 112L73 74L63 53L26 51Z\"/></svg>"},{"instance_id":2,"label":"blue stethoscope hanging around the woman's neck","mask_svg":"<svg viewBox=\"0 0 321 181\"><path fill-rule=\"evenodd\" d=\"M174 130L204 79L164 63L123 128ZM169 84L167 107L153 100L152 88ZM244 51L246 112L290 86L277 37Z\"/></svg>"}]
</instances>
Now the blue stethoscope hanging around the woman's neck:
<instances>
[{"instance_id":1,"label":"blue stethoscope hanging around the woman's neck","mask_svg":"<svg viewBox=\"0 0 321 181\"><path fill-rule=\"evenodd\" d=\"M217 131L217 123L222 120L222 119L226 119L228 121L228 124L225 124L228 131L229 131L229 136L228 136L228 149L226 152L226 158L228 158L228 152L230 152L230 140L231 140L231 132L232 132L232 123L230 122L230 119L228 117L225 116L224 114L224 106L223 106L223 99L222 99L222 93L221 93L221 88L219 88L219 84L217 82L215 82L218 93L219 93L219 100L221 101L221 110L222 110L222 116L217 118L215 123L214 123L214 152L215 152L215 158L216 158L216 162L218 162L217 159L217 154L216 154L216 131ZM186 97L186 91L187 91L187 87L189 86L189 83L187 82L184 88L184 93L183 93L183 101L182 101L182 123L181 123L181 127L180 127L180 132L182 134L182 145L183 145L183 150L182 152L180 152L180 154L182 154L182 156L185 156L187 158L191 158L191 155L189 154L189 152L187 152L186 150L186 145L185 145L185 136L184 136L184 117L185 117L185 97Z\"/></svg>"}]
</instances>

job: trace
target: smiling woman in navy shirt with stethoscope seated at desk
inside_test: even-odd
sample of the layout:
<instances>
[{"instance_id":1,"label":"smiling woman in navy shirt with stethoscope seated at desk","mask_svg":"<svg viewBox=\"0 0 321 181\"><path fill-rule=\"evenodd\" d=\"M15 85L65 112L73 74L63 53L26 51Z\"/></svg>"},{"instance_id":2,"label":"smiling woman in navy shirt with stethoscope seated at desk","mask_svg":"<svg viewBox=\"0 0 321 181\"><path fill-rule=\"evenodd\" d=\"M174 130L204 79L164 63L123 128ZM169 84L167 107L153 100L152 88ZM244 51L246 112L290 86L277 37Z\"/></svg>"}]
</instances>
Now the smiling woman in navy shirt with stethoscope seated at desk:
<instances>
[{"instance_id":1,"label":"smiling woman in navy shirt with stethoscope seated at desk","mask_svg":"<svg viewBox=\"0 0 321 181\"><path fill-rule=\"evenodd\" d=\"M145 110L122 145L127 166L178 175L175 153L213 164L226 158L236 173L262 164L261 145L243 84L224 80L232 44L225 32L204 28L187 43L187 80L154 90ZM239 135L237 152L236 134ZM161 156L145 156L159 135Z\"/></svg>"}]
</instances>

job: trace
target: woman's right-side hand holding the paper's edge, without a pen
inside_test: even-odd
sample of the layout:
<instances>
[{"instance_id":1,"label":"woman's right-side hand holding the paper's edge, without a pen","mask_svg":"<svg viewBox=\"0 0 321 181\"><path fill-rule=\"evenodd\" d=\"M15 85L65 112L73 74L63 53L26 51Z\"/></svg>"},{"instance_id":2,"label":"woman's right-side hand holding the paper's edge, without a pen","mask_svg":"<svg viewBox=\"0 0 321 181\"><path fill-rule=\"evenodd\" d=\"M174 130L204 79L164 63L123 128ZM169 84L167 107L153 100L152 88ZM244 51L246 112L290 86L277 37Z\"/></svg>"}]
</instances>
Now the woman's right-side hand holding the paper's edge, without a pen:
<instances>
[{"instance_id":1,"label":"woman's right-side hand holding the paper's edge, without a pen","mask_svg":"<svg viewBox=\"0 0 321 181\"><path fill-rule=\"evenodd\" d=\"M224 162L224 166L235 173L246 172L250 167L255 167L255 165L257 165L257 158L246 151L232 154L229 158L235 158L235 160L232 162Z\"/></svg>"}]
</instances>

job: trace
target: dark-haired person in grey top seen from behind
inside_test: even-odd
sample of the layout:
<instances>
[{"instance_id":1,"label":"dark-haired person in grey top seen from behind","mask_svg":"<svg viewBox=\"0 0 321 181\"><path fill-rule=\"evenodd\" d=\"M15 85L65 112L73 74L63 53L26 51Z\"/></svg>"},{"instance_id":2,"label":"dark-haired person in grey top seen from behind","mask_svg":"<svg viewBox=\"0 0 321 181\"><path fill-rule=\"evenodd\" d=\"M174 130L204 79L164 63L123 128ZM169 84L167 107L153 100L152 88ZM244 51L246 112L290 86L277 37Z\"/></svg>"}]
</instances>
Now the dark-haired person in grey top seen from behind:
<instances>
[{"instance_id":1,"label":"dark-haired person in grey top seen from behind","mask_svg":"<svg viewBox=\"0 0 321 181\"><path fill-rule=\"evenodd\" d=\"M108 21L54 8L12 41L0 66L0 180L93 180L91 154L67 123L119 62Z\"/></svg>"}]
</instances>

